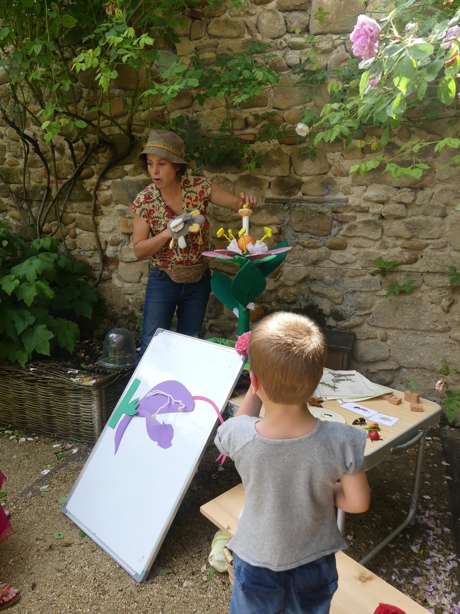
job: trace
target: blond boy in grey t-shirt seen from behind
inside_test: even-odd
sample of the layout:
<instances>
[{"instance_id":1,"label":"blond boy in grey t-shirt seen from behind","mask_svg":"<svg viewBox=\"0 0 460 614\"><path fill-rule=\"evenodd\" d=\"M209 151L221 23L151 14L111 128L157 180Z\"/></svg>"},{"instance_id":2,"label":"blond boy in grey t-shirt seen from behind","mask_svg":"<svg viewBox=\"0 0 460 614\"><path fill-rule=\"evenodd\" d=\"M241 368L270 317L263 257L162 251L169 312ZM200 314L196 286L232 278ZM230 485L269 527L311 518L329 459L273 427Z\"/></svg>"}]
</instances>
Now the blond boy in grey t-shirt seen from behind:
<instances>
[{"instance_id":1,"label":"blond boy in grey t-shirt seen from behind","mask_svg":"<svg viewBox=\"0 0 460 614\"><path fill-rule=\"evenodd\" d=\"M328 614L337 589L334 553L347 548L334 505L349 513L369 507L367 433L310 413L326 341L309 318L267 316L251 333L248 354L251 389L215 438L246 492L229 543L230 614Z\"/></svg>"}]
</instances>

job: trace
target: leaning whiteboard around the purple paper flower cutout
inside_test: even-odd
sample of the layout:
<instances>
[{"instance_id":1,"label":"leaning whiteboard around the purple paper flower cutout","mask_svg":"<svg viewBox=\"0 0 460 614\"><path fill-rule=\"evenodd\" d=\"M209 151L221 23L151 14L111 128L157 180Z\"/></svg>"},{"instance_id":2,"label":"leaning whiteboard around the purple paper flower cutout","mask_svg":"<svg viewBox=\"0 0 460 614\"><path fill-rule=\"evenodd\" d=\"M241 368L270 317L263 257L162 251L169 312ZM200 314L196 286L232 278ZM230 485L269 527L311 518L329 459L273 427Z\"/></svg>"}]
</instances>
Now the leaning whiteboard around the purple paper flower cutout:
<instances>
[{"instance_id":1,"label":"leaning whiteboard around the purple paper flower cutout","mask_svg":"<svg viewBox=\"0 0 460 614\"><path fill-rule=\"evenodd\" d=\"M233 348L157 330L121 398L136 378L140 384L132 398L141 399L157 384L177 380L222 413L244 363ZM147 578L218 416L209 403L195 400L193 411L161 419L174 429L169 448L148 436L147 418L134 415L116 454L123 417L115 429L107 423L61 508L138 582Z\"/></svg>"}]
</instances>

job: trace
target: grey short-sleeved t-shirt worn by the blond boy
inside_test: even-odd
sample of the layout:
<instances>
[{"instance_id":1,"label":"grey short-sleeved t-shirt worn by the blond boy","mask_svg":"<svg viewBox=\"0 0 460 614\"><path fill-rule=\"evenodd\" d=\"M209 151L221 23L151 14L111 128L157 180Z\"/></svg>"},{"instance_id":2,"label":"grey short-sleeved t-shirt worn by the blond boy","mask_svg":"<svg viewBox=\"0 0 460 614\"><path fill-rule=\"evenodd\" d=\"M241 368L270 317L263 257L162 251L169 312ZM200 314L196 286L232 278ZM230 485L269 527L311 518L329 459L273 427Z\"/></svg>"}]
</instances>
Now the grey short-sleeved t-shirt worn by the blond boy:
<instances>
[{"instance_id":1,"label":"grey short-sleeved t-shirt worn by the blond boy","mask_svg":"<svg viewBox=\"0 0 460 614\"><path fill-rule=\"evenodd\" d=\"M239 558L274 571L294 569L345 550L334 508L334 485L362 467L367 432L318 420L296 439L266 439L260 418L224 422L215 445L235 461L246 502L229 548Z\"/></svg>"}]
</instances>

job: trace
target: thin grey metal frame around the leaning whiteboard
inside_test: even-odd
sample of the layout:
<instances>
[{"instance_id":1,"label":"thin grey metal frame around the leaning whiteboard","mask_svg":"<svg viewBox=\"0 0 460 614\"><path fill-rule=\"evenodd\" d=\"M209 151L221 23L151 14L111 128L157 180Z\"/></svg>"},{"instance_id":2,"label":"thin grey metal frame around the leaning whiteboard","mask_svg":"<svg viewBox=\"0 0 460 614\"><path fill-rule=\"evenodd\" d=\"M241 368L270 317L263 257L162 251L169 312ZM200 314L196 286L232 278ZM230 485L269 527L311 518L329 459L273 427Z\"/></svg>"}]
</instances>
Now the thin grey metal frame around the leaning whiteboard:
<instances>
[{"instance_id":1,"label":"thin grey metal frame around the leaning whiteboard","mask_svg":"<svg viewBox=\"0 0 460 614\"><path fill-rule=\"evenodd\" d=\"M199 338L190 337L190 336L187 336L187 335L181 335L180 333L171 332L169 330L165 330L164 328L158 328L158 330L156 330L155 335L153 335L153 338L150 341L150 344L152 344L155 341L156 336L158 336L158 335L160 335L162 333L163 334L167 334L167 335L186 337L186 339L188 341L195 341L196 343L199 343L199 344L208 344L208 345L210 345L209 341L202 340L202 339L199 339ZM150 344L149 344L149 346L150 346ZM215 344L213 344L213 345L215 345ZM232 352L233 353L235 351L234 348L229 348L228 346L220 345L219 347L221 348L222 351L225 351L225 352ZM131 376L131 379L129 379L128 384L126 384L125 391L123 391L123 394L121 395L120 398L123 398L123 396L125 395L125 392L129 389L129 386L131 386L132 381L135 379L135 375L137 373L137 370L139 369L140 365L142 365L142 362L144 361L145 357L147 356L147 353L148 352L146 350L144 356L142 357L142 359L140 359L139 365L137 365L137 367L134 369L134 371L132 373L132 376ZM230 398L230 396L231 396L231 394L232 394L232 392L234 390L234 387L235 387L237 379L239 378L240 374L242 373L244 365L245 365L245 360L241 359L241 366L240 366L239 371L236 373L236 376L235 376L234 380L228 382L228 386L227 386L227 389L226 389L226 398L225 398L222 406L219 408L220 414L223 413L223 411L225 410L225 408L226 408L226 406L228 404L228 400L229 400L229 398ZM223 383L223 387L224 387L224 383ZM113 409L112 414L110 414L110 417L113 415L113 413L115 413L115 410L117 410L117 406L118 406L118 403L115 406L115 408ZM109 418L109 420L110 420L110 418ZM218 418L216 416L216 420L215 420L213 429L215 429L215 424L216 424L217 421L218 421ZM112 548L110 548L106 543L104 543L104 541L101 538L99 538L98 535L94 534L94 532L91 529L89 529L87 526L85 526L85 524L83 524L81 521L79 521L78 518L76 518L69 510L67 510L67 504L71 500L71 497L74 494L75 489L77 489L77 486L78 486L78 484L79 484L83 474L85 473L86 468L88 468L88 465L90 465L91 459L93 459L94 454L96 454L96 451L97 451L97 449L99 447L99 443L101 442L102 437L104 436L105 432L107 432L107 429L110 429L108 422L109 421L107 421L107 424L105 424L105 427L102 430L101 435L99 435L99 438L98 438L98 441L96 442L96 445L94 445L94 448L92 449L90 456L86 460L85 465L83 465L83 468L82 468L82 470L81 470L77 480L75 481L74 486L72 486L71 492L69 492L69 495L67 496L66 501L62 505L61 512L65 516L67 516L67 518L69 518L74 524L76 524L78 527L80 527L80 529L82 529L86 533L86 535L88 535L88 537L90 537L93 540L93 542L97 543L98 546L100 546L102 548L102 550L104 550L107 554L109 554L112 557L112 559L115 562L117 562L118 565L120 565L120 567L122 567L126 572L129 573L129 575L131 575L132 578L134 578L134 580L136 580L136 582L143 582L144 580L146 580L146 578L148 576L148 573L150 572L151 565L153 565L153 562L155 561L156 555L158 554L159 549L163 545L164 538L166 537L166 534L167 534L169 528L171 527L172 521L174 520L175 515L177 514L177 511L178 511L178 508L180 507L180 504L182 503L183 498L185 497L185 494L186 494L186 492L187 492L187 490L188 490L188 488L189 488L189 486L191 484L191 481L194 478L194 475L196 473L197 467L198 467L199 463L201 462L201 459L202 459L202 457L203 457L203 455L205 453L205 450L206 450L207 446L209 445L209 441L210 440L208 439L204 443L203 449L201 451L201 454L199 454L199 458L198 458L196 464L194 465L193 468L191 468L190 476L189 476L188 480L186 481L186 483L183 484L183 486L182 486L182 490L180 491L180 493L178 495L178 498L177 498L177 500L175 502L174 508L172 508L171 512L169 513L168 518L166 519L166 523L163 526L163 530L162 530L161 535L159 537L158 543L157 543L156 547L151 551L150 556L148 557L148 559L147 559L147 561L145 563L144 569L142 570L142 572L136 573L136 570L132 569L132 567L130 567L130 565L128 565L120 556L118 556L112 550ZM211 433L213 432L213 429L211 430ZM114 429L110 429L110 430L114 430Z\"/></svg>"}]
</instances>

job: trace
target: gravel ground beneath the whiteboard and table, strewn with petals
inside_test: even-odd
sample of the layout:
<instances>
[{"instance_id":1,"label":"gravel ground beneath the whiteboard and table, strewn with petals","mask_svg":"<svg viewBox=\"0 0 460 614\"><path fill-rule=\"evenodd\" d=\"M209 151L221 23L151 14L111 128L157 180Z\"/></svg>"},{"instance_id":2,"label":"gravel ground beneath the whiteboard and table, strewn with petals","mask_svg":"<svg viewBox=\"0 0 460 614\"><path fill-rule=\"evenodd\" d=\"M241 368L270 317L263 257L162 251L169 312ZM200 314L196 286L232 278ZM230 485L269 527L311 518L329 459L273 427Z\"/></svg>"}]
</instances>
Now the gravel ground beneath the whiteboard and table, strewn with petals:
<instances>
[{"instance_id":1,"label":"gravel ground beneath the whiteboard and table, strewn with petals","mask_svg":"<svg viewBox=\"0 0 460 614\"><path fill-rule=\"evenodd\" d=\"M429 434L418 522L367 566L431 612L458 614L460 577L448 503L449 467L442 453L442 429ZM72 442L28 440L28 433L15 431L0 435L0 469L7 476L1 501L12 511L14 530L0 546L0 580L22 594L9 610L12 614L228 612L228 576L213 573L208 579L207 556L216 529L199 507L239 478L231 461L217 472L214 445L205 453L148 580L137 584L90 538L80 537L79 528L59 511L58 501L71 490L91 446L72 445L68 456L58 460L56 453ZM414 466L415 451L407 451L369 472L370 510L347 516L347 553L353 559L359 560L401 521ZM129 497L129 484L121 486L120 497ZM56 531L63 537L55 537Z\"/></svg>"}]
</instances>

